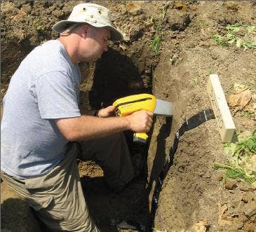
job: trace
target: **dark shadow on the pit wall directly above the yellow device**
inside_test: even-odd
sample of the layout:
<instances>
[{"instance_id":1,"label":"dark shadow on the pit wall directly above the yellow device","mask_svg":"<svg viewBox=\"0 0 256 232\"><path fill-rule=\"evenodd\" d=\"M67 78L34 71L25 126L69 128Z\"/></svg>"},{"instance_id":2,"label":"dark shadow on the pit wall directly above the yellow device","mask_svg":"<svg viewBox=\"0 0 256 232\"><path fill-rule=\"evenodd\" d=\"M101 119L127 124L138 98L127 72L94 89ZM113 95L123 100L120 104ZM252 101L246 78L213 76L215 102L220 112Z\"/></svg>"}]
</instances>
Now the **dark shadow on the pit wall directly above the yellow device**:
<instances>
[{"instance_id":1,"label":"dark shadow on the pit wall directly above the yellow device","mask_svg":"<svg viewBox=\"0 0 256 232\"><path fill-rule=\"evenodd\" d=\"M96 63L93 87L89 92L90 106L100 109L120 97L140 93L151 93L151 89L144 88L141 74L133 61L109 48Z\"/></svg>"}]
</instances>

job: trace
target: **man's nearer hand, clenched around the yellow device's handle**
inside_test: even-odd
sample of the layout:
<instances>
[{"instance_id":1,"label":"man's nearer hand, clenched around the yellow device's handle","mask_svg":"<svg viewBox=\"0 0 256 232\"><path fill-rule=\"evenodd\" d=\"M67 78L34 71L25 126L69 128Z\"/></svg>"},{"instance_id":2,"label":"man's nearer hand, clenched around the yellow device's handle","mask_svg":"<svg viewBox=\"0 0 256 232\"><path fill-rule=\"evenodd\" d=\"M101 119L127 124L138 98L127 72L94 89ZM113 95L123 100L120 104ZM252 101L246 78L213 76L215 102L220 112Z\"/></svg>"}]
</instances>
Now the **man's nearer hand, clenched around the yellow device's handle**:
<instances>
[{"instance_id":1,"label":"man's nearer hand, clenched around the yellow device's handle","mask_svg":"<svg viewBox=\"0 0 256 232\"><path fill-rule=\"evenodd\" d=\"M150 111L135 111L133 114L125 116L129 122L130 130L134 132L149 132L153 123L153 113Z\"/></svg>"}]
</instances>

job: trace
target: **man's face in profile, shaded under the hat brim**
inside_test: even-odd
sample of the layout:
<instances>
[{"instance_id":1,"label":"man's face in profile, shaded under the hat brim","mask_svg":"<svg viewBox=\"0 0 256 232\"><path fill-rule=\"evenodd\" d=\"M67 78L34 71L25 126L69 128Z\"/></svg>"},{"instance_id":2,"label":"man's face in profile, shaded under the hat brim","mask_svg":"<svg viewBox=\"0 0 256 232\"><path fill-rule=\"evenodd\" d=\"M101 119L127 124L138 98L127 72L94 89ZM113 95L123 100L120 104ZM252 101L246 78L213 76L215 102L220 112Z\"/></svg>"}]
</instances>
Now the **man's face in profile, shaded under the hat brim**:
<instances>
[{"instance_id":1,"label":"man's face in profile, shaded under the hat brim","mask_svg":"<svg viewBox=\"0 0 256 232\"><path fill-rule=\"evenodd\" d=\"M81 48L81 54L85 61L92 62L100 58L107 51L107 41L110 39L110 31L107 28L88 27L86 39Z\"/></svg>"}]
</instances>

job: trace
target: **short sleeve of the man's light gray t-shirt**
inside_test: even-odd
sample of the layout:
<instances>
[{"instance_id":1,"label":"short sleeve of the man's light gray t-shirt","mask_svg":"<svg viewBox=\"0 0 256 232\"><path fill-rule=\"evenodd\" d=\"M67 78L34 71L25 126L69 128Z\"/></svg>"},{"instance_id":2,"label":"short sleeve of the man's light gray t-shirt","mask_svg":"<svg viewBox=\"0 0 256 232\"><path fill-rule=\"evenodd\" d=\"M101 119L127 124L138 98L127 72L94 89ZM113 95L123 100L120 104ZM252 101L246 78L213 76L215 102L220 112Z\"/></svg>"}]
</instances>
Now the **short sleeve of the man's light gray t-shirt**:
<instances>
[{"instance_id":1,"label":"short sleeve of the man's light gray t-shirt","mask_svg":"<svg viewBox=\"0 0 256 232\"><path fill-rule=\"evenodd\" d=\"M75 87L72 78L60 71L52 71L36 79L34 90L41 118L81 116Z\"/></svg>"}]
</instances>

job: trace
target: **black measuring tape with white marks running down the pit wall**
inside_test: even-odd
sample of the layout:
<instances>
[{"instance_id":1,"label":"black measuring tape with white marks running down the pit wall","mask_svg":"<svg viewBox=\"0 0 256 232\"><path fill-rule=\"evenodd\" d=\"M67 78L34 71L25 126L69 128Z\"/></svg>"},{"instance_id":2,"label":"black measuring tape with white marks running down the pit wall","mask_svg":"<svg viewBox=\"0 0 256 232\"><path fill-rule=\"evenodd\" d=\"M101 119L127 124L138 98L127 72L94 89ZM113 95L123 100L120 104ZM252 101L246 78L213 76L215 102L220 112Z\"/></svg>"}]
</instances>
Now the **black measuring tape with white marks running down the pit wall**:
<instances>
[{"instance_id":1,"label":"black measuring tape with white marks running down the pit wall","mask_svg":"<svg viewBox=\"0 0 256 232\"><path fill-rule=\"evenodd\" d=\"M156 186L154 189L152 201L151 201L151 218L150 224L148 226L139 224L135 221L121 220L121 219L109 219L105 221L105 224L110 224L110 226L115 226L116 228L130 229L136 231L152 231L154 226L154 217L156 214L156 209L158 207L159 196L162 190L163 180L166 178L167 172L170 169L170 166L173 165L174 154L177 151L177 145L179 144L180 137L184 132L196 128L198 125L205 123L206 121L215 118L212 109L206 109L191 118L184 121L179 130L175 134L175 139L173 146L170 148L170 153L166 163L163 165L163 168L159 174L159 177L156 179ZM107 222L107 223L106 223Z\"/></svg>"}]
</instances>

